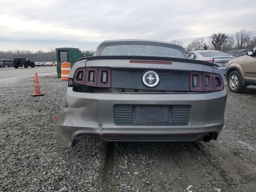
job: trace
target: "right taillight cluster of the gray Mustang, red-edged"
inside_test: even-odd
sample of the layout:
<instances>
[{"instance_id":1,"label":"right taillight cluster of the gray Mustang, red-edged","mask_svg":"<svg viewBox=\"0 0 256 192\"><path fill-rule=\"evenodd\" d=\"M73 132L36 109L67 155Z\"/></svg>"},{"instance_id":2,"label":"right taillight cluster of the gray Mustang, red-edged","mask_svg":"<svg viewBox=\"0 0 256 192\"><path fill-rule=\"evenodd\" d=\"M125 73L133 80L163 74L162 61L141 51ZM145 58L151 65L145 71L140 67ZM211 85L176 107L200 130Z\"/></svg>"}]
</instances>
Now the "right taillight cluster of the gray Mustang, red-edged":
<instances>
[{"instance_id":1,"label":"right taillight cluster of the gray Mustang, red-edged","mask_svg":"<svg viewBox=\"0 0 256 192\"><path fill-rule=\"evenodd\" d=\"M191 72L190 90L191 91L216 91L223 89L223 81L218 74Z\"/></svg>"}]
</instances>

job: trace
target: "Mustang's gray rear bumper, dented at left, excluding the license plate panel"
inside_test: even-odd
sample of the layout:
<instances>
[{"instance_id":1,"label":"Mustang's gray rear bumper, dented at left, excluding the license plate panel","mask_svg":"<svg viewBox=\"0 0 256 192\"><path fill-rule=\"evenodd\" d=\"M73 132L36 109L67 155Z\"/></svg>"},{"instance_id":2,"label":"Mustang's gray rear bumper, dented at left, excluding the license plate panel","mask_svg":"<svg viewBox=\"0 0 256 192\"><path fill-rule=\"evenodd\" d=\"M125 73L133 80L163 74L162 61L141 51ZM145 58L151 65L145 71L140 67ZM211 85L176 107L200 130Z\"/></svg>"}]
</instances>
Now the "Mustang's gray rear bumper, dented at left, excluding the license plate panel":
<instances>
[{"instance_id":1,"label":"Mustang's gray rear bumper, dented at left, excluding the license plate panel","mask_svg":"<svg viewBox=\"0 0 256 192\"><path fill-rule=\"evenodd\" d=\"M57 141L72 146L81 135L103 141L200 141L207 133L218 135L224 125L227 90L211 93L96 94L68 88L54 122ZM186 126L127 126L114 123L114 105L190 105Z\"/></svg>"}]
</instances>

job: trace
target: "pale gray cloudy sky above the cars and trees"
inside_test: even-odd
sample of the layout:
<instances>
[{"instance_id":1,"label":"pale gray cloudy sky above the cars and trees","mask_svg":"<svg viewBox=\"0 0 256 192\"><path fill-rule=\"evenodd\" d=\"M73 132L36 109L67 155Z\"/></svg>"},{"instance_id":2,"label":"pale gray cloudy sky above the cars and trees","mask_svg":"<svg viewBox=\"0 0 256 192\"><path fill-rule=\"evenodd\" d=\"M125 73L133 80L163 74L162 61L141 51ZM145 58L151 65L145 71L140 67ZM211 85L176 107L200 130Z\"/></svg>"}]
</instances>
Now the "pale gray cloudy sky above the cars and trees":
<instances>
[{"instance_id":1,"label":"pale gray cloudy sky above the cars and trees","mask_svg":"<svg viewBox=\"0 0 256 192\"><path fill-rule=\"evenodd\" d=\"M0 50L96 49L103 40L186 46L212 33L256 32L253 0L0 0Z\"/></svg>"}]
</instances>

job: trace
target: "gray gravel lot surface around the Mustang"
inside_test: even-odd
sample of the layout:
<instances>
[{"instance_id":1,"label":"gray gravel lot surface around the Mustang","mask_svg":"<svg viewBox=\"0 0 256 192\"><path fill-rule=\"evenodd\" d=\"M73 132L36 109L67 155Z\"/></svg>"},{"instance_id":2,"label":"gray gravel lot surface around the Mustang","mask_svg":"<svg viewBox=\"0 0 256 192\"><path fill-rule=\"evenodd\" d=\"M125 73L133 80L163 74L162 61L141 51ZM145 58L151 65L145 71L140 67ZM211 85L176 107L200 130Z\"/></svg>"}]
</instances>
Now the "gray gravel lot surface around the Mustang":
<instances>
[{"instance_id":1,"label":"gray gravel lot surface around the Mustang","mask_svg":"<svg viewBox=\"0 0 256 192\"><path fill-rule=\"evenodd\" d=\"M31 97L31 74L0 78L0 191L255 191L255 87L228 93L217 141L103 144L84 137L66 148L53 135L66 82L54 73L39 80L45 95Z\"/></svg>"}]
</instances>

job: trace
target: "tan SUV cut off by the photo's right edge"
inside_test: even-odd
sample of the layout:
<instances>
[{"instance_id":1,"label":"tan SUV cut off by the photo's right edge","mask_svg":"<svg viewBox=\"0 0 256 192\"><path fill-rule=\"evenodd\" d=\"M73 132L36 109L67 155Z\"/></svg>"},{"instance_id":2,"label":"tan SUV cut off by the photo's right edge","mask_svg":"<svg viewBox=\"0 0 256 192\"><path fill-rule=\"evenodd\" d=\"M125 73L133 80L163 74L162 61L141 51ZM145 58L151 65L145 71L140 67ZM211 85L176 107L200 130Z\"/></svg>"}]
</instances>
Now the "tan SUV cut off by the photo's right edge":
<instances>
[{"instance_id":1,"label":"tan SUV cut off by the photo's right edge","mask_svg":"<svg viewBox=\"0 0 256 192\"><path fill-rule=\"evenodd\" d=\"M230 91L242 93L248 85L256 85L256 47L246 55L228 62L226 71Z\"/></svg>"}]
</instances>

